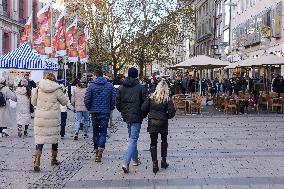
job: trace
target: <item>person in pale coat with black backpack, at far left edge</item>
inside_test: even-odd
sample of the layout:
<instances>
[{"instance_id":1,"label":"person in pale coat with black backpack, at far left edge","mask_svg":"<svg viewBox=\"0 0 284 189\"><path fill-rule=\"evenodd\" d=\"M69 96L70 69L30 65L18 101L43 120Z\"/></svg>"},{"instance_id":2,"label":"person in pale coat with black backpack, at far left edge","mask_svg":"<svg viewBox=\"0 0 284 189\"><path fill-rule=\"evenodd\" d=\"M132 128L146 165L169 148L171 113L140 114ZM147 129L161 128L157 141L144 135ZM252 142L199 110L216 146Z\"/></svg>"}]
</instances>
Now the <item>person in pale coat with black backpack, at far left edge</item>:
<instances>
[{"instance_id":1,"label":"person in pale coat with black backpack, at far left edge","mask_svg":"<svg viewBox=\"0 0 284 189\"><path fill-rule=\"evenodd\" d=\"M9 100L16 102L17 97L16 94L6 86L6 80L4 78L0 78L0 93L1 97L3 97L5 101L5 105L0 106L0 137L7 137L9 136L7 134L7 128L11 128L13 126Z\"/></svg>"}]
</instances>

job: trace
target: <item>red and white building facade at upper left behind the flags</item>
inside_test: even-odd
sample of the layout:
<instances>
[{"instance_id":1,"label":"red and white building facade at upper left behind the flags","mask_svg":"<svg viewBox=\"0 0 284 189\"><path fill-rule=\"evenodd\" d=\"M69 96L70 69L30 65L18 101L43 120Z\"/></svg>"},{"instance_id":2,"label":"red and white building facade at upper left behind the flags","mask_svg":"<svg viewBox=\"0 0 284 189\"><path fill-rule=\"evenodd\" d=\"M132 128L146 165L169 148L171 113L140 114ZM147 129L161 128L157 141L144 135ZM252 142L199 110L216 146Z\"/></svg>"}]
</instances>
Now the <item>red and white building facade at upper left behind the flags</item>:
<instances>
[{"instance_id":1,"label":"red and white building facade at upper left behind the flags","mask_svg":"<svg viewBox=\"0 0 284 189\"><path fill-rule=\"evenodd\" d=\"M34 28L37 12L43 6L39 0L0 0L0 55L18 47L20 34L33 12Z\"/></svg>"}]
</instances>

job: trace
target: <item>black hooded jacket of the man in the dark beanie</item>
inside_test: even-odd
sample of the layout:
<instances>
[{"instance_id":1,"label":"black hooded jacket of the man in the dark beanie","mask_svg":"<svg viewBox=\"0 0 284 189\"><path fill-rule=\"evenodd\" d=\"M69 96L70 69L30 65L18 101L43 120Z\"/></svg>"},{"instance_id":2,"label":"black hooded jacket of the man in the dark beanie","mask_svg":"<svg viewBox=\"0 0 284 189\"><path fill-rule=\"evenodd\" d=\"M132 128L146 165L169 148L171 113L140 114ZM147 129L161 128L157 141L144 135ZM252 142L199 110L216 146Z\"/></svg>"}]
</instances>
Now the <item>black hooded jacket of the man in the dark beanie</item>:
<instances>
[{"instance_id":1,"label":"black hooded jacket of the man in the dark beanie","mask_svg":"<svg viewBox=\"0 0 284 189\"><path fill-rule=\"evenodd\" d=\"M141 105L147 97L147 91L138 79L125 78L123 84L118 88L116 96L116 107L123 121L126 123L142 123L143 115Z\"/></svg>"}]
</instances>

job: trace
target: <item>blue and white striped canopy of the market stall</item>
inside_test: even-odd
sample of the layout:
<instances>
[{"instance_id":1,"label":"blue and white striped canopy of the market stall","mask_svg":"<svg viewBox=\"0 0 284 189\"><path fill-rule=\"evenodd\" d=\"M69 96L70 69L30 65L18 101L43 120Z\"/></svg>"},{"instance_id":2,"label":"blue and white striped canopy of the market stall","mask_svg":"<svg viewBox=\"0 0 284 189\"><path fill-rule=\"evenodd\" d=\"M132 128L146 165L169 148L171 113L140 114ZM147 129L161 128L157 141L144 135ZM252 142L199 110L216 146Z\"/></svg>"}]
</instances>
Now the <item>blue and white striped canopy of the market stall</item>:
<instances>
[{"instance_id":1,"label":"blue and white striped canopy of the market stall","mask_svg":"<svg viewBox=\"0 0 284 189\"><path fill-rule=\"evenodd\" d=\"M49 61L33 50L28 43L0 56L0 69L58 70L58 64Z\"/></svg>"}]
</instances>

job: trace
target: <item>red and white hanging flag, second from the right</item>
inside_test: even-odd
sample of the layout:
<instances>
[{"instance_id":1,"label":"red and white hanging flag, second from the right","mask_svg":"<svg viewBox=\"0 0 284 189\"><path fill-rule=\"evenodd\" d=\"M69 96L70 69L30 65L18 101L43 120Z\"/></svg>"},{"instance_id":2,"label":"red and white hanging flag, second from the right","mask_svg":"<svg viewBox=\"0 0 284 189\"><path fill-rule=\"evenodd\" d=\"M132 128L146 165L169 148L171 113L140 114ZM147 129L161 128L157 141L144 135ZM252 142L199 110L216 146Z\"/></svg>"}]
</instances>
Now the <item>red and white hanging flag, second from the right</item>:
<instances>
[{"instance_id":1,"label":"red and white hanging flag, second from the right","mask_svg":"<svg viewBox=\"0 0 284 189\"><path fill-rule=\"evenodd\" d=\"M73 23L67 28L66 42L68 47L68 57L70 62L78 62L78 29L77 15Z\"/></svg>"}]
</instances>

